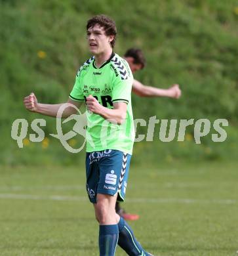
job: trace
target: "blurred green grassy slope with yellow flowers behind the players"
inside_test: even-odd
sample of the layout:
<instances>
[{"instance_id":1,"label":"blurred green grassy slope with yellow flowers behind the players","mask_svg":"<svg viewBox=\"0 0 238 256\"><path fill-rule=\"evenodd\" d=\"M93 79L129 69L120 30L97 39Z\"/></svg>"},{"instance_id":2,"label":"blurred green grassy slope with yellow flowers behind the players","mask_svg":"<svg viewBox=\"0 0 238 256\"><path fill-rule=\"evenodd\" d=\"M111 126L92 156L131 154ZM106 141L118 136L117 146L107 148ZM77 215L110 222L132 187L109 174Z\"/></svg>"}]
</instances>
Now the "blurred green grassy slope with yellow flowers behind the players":
<instances>
[{"instance_id":1,"label":"blurred green grassy slope with yellow flowers behind the players","mask_svg":"<svg viewBox=\"0 0 238 256\"><path fill-rule=\"evenodd\" d=\"M32 91L39 102L55 104L68 100L75 74L90 56L86 22L92 15L101 13L111 16L117 24L116 53L123 55L130 47L144 51L147 66L135 74L136 79L160 88L179 83L182 89L180 100L132 95L135 119L147 121L150 116L157 116L157 119L208 118L212 123L217 118L229 121L229 127L225 127L228 140L222 145L214 144L211 134L202 140L203 147L182 148L178 143L153 142L152 161L157 161L155 152L161 148L167 156L185 160L235 158L237 8L237 0L138 1L136 4L127 0L0 1L0 163L29 165L37 154L43 163L58 158L59 164L75 164L79 157L66 155L65 150L54 146L58 143L56 139L50 139L50 153L30 146L28 150L18 150L10 131L17 118L26 118L29 123L41 118L39 114L26 112L22 104L24 96ZM42 51L45 57L39 55ZM46 120L46 135L56 133L55 120L50 117ZM160 123L156 125L159 126ZM146 127L138 125L139 133L145 130ZM29 126L28 139L31 132ZM189 125L186 133L193 135L193 125ZM139 158L143 156L142 151Z\"/></svg>"}]
</instances>

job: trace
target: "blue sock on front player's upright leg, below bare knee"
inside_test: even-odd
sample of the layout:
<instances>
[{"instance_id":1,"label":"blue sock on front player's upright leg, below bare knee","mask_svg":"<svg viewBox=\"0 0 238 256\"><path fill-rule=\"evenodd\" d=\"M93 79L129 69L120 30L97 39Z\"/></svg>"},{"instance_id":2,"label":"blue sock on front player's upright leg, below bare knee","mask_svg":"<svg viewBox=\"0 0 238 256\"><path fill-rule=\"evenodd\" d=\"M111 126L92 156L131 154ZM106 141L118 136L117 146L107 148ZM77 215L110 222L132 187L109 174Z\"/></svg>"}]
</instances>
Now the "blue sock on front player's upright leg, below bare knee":
<instances>
[{"instance_id":1,"label":"blue sock on front player's upright leg, below bare knee","mask_svg":"<svg viewBox=\"0 0 238 256\"><path fill-rule=\"evenodd\" d=\"M99 226L99 249L100 256L114 256L115 248L118 241L118 226L113 225L100 225Z\"/></svg>"}]
</instances>

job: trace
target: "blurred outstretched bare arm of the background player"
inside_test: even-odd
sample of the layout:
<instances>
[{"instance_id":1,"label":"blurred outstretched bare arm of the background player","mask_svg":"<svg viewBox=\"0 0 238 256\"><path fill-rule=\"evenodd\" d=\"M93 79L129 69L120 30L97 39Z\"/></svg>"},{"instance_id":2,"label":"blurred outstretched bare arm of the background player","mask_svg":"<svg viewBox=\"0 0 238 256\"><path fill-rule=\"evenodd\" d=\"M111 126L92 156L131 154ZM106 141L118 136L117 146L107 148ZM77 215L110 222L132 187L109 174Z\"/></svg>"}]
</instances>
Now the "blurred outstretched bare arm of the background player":
<instances>
[{"instance_id":1,"label":"blurred outstretched bare arm of the background player","mask_svg":"<svg viewBox=\"0 0 238 256\"><path fill-rule=\"evenodd\" d=\"M180 98L181 90L179 85L174 84L168 89L159 89L157 87L151 87L148 85L143 85L136 79L134 79L132 84L132 92L138 96L144 97L170 97L170 98Z\"/></svg>"}]
</instances>

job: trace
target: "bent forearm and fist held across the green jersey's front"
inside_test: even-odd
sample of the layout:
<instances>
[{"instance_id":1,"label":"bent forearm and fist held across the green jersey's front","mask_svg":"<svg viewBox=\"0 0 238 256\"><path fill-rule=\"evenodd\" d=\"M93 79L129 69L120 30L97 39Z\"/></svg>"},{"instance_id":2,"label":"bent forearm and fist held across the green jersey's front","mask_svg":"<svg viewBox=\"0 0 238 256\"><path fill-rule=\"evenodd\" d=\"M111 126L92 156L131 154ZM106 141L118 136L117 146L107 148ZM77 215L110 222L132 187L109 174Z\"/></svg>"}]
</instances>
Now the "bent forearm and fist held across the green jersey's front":
<instances>
[{"instance_id":1,"label":"bent forearm and fist held across the green jersey's front","mask_svg":"<svg viewBox=\"0 0 238 256\"><path fill-rule=\"evenodd\" d=\"M109 109L100 105L98 100L90 95L87 97L86 104L87 110L104 117L104 119L108 121L116 122L119 125L125 121L127 116L127 104L124 102L113 103L113 109Z\"/></svg>"}]
</instances>

